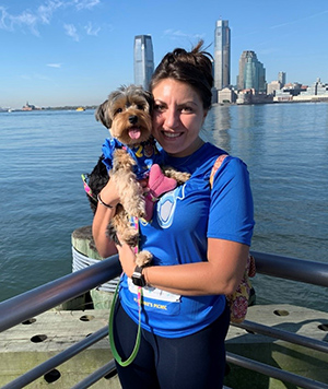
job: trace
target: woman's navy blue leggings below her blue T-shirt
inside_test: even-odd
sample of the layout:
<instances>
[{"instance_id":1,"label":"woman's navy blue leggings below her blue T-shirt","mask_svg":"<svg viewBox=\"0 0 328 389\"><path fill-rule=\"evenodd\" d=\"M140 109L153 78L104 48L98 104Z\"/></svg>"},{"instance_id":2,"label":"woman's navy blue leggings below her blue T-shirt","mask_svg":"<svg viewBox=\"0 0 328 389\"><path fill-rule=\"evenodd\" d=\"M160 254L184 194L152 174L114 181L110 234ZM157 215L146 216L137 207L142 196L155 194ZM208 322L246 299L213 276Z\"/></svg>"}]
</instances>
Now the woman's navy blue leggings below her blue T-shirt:
<instances>
[{"instance_id":1,"label":"woman's navy blue leggings below her blue T-shirt","mask_svg":"<svg viewBox=\"0 0 328 389\"><path fill-rule=\"evenodd\" d=\"M114 319L114 339L120 357L134 346L138 326L119 303ZM230 310L209 327L183 338L162 338L142 330L136 359L127 367L116 364L124 389L220 389L225 370L224 339Z\"/></svg>"}]
</instances>

